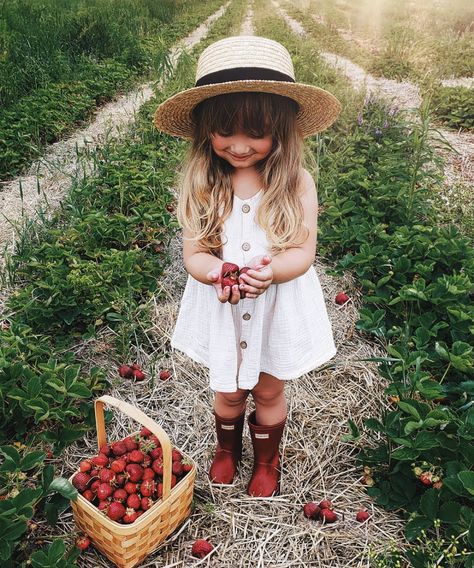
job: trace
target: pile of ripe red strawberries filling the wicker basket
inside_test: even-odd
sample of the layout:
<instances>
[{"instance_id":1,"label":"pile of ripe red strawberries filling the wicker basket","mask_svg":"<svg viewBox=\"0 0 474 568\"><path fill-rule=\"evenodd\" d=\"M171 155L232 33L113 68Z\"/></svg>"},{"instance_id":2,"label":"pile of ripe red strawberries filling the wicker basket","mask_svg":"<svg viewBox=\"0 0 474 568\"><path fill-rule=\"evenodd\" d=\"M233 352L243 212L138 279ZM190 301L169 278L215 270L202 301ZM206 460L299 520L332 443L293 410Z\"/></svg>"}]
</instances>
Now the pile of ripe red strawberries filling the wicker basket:
<instances>
[{"instance_id":1,"label":"pile of ripe red strawberries filling the wicker basket","mask_svg":"<svg viewBox=\"0 0 474 568\"><path fill-rule=\"evenodd\" d=\"M171 487L192 469L181 452L172 450ZM112 521L133 523L163 495L163 449L147 428L100 448L84 460L72 484Z\"/></svg>"}]
</instances>

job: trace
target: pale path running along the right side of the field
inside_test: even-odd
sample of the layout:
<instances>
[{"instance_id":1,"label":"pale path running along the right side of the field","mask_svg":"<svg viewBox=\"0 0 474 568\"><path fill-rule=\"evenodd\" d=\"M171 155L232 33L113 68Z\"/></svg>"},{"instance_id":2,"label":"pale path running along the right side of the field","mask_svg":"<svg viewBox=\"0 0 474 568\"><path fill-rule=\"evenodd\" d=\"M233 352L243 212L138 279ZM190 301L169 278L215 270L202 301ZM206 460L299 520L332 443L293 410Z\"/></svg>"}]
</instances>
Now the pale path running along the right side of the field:
<instances>
[{"instance_id":1,"label":"pale path running along the right side of the field","mask_svg":"<svg viewBox=\"0 0 474 568\"><path fill-rule=\"evenodd\" d=\"M272 0L272 3L296 34L309 37L304 27L291 18L278 2ZM376 95L392 100L399 108L413 112L413 118L416 120L416 109L421 104L421 95L416 85L408 81L399 82L393 79L373 77L359 65L335 53L321 52L320 55L329 65L341 71L356 89L365 85L368 93L373 92ZM454 152L438 150L446 160L446 180L450 184L472 185L474 183L474 134L470 132L454 132L442 126L437 126L436 128L454 148Z\"/></svg>"}]
</instances>

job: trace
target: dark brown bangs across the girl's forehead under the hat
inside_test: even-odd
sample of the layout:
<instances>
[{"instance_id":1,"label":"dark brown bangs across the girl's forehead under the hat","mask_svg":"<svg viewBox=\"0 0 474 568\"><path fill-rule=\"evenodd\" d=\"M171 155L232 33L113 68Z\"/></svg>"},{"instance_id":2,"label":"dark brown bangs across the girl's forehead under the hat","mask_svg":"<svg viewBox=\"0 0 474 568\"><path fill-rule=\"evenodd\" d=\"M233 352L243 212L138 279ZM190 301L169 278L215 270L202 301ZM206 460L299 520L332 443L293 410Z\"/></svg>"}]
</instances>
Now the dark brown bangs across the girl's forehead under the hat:
<instances>
[{"instance_id":1,"label":"dark brown bangs across the girl's forehead under the hat","mask_svg":"<svg viewBox=\"0 0 474 568\"><path fill-rule=\"evenodd\" d=\"M240 129L247 136L262 138L272 134L292 111L296 116L298 108L298 103L288 97L245 91L201 101L193 109L193 118L200 124L205 137L214 132L231 136Z\"/></svg>"}]
</instances>

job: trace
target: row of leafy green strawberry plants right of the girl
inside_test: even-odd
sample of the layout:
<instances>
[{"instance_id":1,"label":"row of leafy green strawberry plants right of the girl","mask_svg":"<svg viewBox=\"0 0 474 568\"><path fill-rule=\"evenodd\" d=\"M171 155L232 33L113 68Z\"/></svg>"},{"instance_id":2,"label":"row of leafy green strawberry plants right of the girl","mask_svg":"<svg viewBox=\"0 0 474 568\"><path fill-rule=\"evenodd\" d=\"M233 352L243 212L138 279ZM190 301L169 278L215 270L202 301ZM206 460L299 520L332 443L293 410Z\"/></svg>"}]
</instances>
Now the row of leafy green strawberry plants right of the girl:
<instances>
[{"instance_id":1,"label":"row of leafy green strawberry plants right of the girl","mask_svg":"<svg viewBox=\"0 0 474 568\"><path fill-rule=\"evenodd\" d=\"M358 455L370 466L367 493L404 512L408 540L426 531L472 547L474 254L454 226L438 226L428 205L441 177L423 142L427 130L426 114L416 126L366 101L344 151L324 157L318 240L340 257L336 273L353 269L359 278L365 296L356 327L388 354L377 362L397 408L363 421L373 442ZM330 187L334 167L342 176ZM359 426L348 425L344 439L358 443ZM427 554L413 555L412 565L426 565Z\"/></svg>"}]
</instances>

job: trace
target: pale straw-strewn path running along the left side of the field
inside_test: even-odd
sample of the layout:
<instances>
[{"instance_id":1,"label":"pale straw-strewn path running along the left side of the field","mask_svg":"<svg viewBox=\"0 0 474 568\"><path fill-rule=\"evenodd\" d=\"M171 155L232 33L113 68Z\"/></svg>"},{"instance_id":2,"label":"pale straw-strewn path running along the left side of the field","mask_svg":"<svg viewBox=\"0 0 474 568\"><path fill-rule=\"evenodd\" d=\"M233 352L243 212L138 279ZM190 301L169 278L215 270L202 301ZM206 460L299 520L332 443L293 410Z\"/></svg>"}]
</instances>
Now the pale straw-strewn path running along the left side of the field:
<instances>
[{"instance_id":1,"label":"pale straw-strewn path running along the left side of the field","mask_svg":"<svg viewBox=\"0 0 474 568\"><path fill-rule=\"evenodd\" d=\"M227 10L230 1L178 42L170 50L170 63L175 67L183 49L189 50L207 35L211 24ZM60 140L47 148L44 156L33 163L26 176L4 182L0 192L0 269L4 266L5 251L14 249L23 224L30 218L44 214L50 218L59 207L73 180L93 173L93 160L84 149L94 150L110 139L125 136L133 123L140 106L151 99L154 89L159 89L162 80L148 82L127 95L111 101L97 110L94 121L82 130ZM78 152L79 151L79 152ZM38 192L39 188L39 192ZM23 192L23 199L21 198Z\"/></svg>"}]
</instances>

